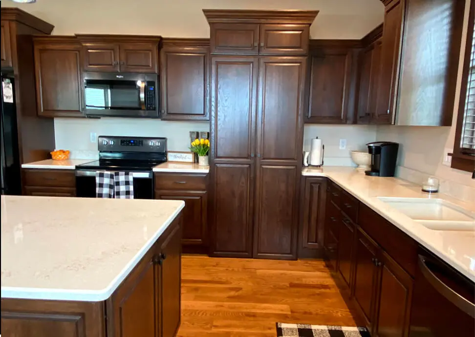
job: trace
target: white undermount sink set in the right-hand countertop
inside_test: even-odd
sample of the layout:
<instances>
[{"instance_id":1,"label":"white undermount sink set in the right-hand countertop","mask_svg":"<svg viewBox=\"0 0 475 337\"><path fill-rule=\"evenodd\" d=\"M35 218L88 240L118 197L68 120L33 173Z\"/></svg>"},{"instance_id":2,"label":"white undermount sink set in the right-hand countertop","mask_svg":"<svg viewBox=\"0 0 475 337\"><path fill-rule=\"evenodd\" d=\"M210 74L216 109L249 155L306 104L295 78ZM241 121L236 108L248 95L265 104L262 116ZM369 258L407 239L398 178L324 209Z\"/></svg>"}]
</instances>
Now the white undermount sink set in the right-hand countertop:
<instances>
[{"instance_id":1,"label":"white undermount sink set in the right-hand countertop","mask_svg":"<svg viewBox=\"0 0 475 337\"><path fill-rule=\"evenodd\" d=\"M435 231L475 231L475 212L442 199L378 197L422 226Z\"/></svg>"}]
</instances>

